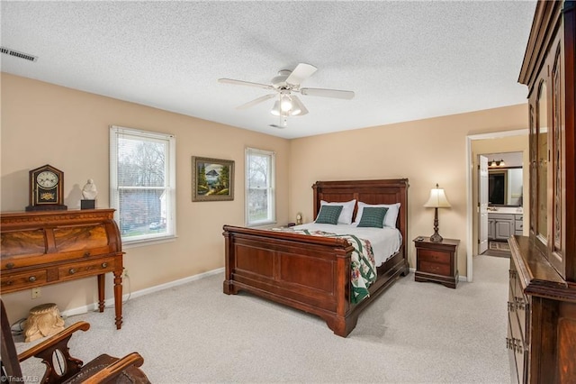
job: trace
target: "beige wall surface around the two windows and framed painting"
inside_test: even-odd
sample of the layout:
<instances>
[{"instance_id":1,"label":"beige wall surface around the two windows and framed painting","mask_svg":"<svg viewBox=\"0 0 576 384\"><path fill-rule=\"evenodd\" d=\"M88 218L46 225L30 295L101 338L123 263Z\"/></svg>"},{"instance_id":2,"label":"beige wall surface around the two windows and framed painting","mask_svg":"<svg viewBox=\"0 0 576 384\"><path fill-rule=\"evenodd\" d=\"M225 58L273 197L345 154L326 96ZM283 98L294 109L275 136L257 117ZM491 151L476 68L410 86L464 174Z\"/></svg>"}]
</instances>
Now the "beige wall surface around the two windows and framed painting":
<instances>
[{"instance_id":1,"label":"beige wall surface around the two windows and framed painting","mask_svg":"<svg viewBox=\"0 0 576 384\"><path fill-rule=\"evenodd\" d=\"M125 293L223 267L222 225L244 223L246 146L276 152L277 199L288 200L288 140L5 73L1 81L3 212L28 205L28 171L47 163L64 171L69 209L79 207L87 178L98 186L98 206L107 207L109 125L175 134L178 238L124 249L130 271ZM193 155L236 161L234 201L192 202ZM288 221L287 209L278 204L280 223ZM95 301L95 278L43 287L41 295L41 301L31 300L25 290L2 298L11 317L23 317L31 306L45 302L57 303L60 310L85 306Z\"/></svg>"}]
</instances>

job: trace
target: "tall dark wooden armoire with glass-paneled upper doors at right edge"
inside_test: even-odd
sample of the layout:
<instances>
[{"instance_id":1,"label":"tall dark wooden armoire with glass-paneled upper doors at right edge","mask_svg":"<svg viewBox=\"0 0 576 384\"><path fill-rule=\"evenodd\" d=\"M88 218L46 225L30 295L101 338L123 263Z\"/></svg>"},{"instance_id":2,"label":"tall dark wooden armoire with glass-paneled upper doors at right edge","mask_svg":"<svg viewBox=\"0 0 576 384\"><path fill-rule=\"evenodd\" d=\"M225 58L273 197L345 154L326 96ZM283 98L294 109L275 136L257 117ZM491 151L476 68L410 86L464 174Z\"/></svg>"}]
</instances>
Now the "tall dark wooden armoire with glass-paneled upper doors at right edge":
<instances>
[{"instance_id":1,"label":"tall dark wooden armoire with glass-paneled upper doors at right edge","mask_svg":"<svg viewBox=\"0 0 576 384\"><path fill-rule=\"evenodd\" d=\"M539 1L518 81L528 86L530 233L509 239L513 382L576 383L574 1Z\"/></svg>"}]
</instances>

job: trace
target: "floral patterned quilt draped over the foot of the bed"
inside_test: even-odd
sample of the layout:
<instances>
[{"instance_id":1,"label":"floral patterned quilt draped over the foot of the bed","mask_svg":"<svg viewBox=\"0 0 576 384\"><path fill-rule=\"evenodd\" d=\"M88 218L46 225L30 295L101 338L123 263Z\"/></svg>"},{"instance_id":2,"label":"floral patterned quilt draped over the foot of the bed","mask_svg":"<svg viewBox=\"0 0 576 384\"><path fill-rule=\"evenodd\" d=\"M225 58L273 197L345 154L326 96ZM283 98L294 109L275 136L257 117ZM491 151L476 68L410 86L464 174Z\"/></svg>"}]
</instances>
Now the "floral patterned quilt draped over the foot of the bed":
<instances>
[{"instance_id":1,"label":"floral patterned quilt draped over the foot of the bed","mask_svg":"<svg viewBox=\"0 0 576 384\"><path fill-rule=\"evenodd\" d=\"M350 258L350 280L352 282L352 292L350 295L350 302L353 304L359 303L365 297L370 296L368 288L376 280L377 272L374 263L374 252L372 251L372 244L370 241L360 239L354 234L336 234L323 231L309 231L293 230L293 233L310 234L311 236L325 236L325 237L338 237L346 239L353 247Z\"/></svg>"}]
</instances>

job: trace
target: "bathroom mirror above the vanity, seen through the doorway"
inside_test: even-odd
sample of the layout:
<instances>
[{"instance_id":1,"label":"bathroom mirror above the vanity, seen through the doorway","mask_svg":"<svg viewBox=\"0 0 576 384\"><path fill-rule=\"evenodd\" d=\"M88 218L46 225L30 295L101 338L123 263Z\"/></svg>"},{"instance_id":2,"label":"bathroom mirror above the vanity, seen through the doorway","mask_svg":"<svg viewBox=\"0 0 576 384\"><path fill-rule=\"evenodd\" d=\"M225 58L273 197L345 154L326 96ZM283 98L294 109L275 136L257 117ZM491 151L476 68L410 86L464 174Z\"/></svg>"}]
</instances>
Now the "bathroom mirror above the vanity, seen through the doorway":
<instances>
[{"instance_id":1,"label":"bathroom mirror above the vanity, seen through the doorway","mask_svg":"<svg viewBox=\"0 0 576 384\"><path fill-rule=\"evenodd\" d=\"M488 204L522 206L522 167L488 170Z\"/></svg>"}]
</instances>

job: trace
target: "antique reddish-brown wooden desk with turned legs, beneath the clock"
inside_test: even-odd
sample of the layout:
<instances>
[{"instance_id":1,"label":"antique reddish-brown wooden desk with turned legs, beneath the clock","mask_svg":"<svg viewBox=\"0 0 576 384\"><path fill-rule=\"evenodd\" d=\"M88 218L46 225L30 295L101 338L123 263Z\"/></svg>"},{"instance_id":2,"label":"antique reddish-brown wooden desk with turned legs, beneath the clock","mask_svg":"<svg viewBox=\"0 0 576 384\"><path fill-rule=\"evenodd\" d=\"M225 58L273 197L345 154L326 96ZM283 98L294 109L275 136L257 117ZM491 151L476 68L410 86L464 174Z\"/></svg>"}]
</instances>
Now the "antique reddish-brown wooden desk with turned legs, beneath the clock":
<instances>
[{"instance_id":1,"label":"antique reddish-brown wooden desk with turned legs, beneath the clock","mask_svg":"<svg viewBox=\"0 0 576 384\"><path fill-rule=\"evenodd\" d=\"M113 209L1 214L2 295L96 276L104 309L104 275L114 275L116 328L122 323L121 237Z\"/></svg>"}]
</instances>

